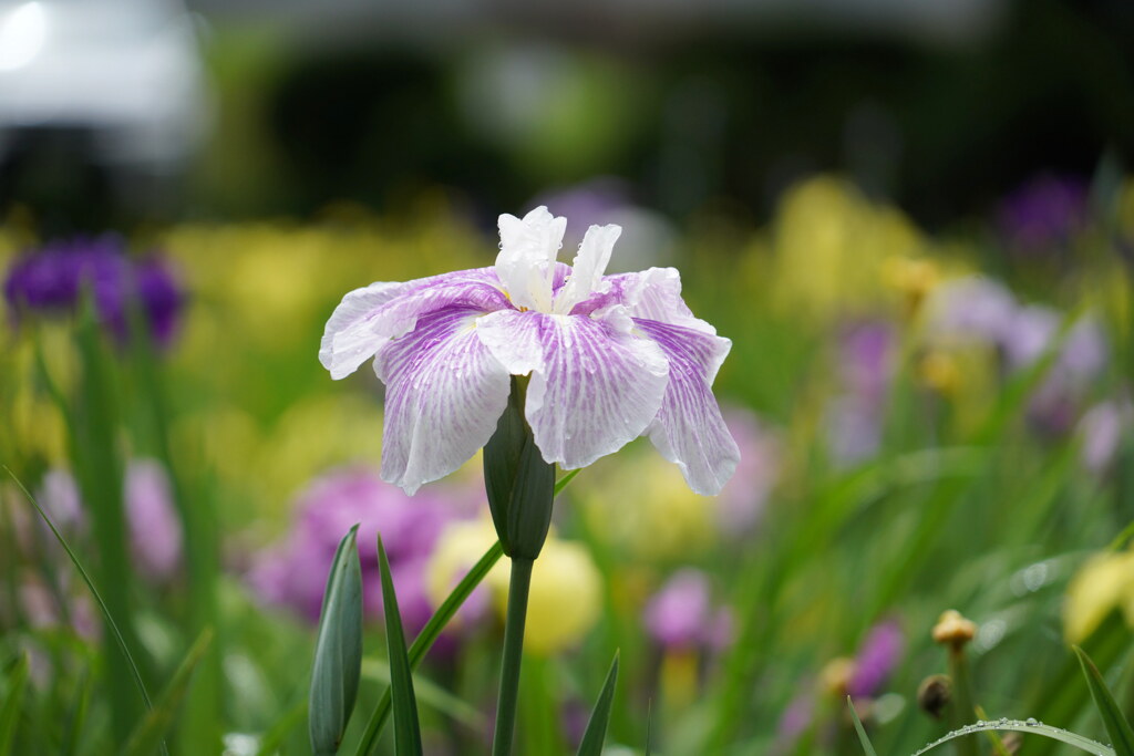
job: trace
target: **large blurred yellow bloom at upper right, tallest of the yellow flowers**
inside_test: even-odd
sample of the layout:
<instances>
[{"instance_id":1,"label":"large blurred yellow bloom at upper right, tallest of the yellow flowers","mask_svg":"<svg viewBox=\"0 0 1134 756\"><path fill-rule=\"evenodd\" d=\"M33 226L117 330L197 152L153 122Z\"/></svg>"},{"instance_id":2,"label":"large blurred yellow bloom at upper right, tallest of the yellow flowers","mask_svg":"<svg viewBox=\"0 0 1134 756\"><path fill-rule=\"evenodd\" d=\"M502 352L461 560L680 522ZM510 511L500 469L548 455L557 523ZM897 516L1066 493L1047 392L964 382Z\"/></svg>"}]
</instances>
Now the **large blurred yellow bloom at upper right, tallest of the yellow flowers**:
<instances>
[{"instance_id":1,"label":"large blurred yellow bloom at upper right, tallest of the yellow flowers","mask_svg":"<svg viewBox=\"0 0 1134 756\"><path fill-rule=\"evenodd\" d=\"M776 221L776 305L821 322L877 309L887 292L883 261L921 258L926 250L899 211L870 203L840 179L804 181L785 195ZM928 279L924 270L920 275Z\"/></svg>"}]
</instances>

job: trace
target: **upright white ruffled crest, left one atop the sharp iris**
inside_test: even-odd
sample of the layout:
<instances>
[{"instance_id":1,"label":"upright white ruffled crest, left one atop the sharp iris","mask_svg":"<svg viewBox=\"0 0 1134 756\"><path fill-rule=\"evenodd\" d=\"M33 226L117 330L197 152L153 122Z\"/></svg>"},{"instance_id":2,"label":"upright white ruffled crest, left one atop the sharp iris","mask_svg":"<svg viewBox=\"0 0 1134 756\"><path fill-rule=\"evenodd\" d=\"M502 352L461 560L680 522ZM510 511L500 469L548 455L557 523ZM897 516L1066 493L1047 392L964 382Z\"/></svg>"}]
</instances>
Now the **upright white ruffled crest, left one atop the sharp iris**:
<instances>
[{"instance_id":1,"label":"upright white ruffled crest, left one atop the sharp iris","mask_svg":"<svg viewBox=\"0 0 1134 756\"><path fill-rule=\"evenodd\" d=\"M523 220L500 215L500 254L496 273L517 307L551 312L556 256L562 245L567 219L540 206Z\"/></svg>"}]
</instances>

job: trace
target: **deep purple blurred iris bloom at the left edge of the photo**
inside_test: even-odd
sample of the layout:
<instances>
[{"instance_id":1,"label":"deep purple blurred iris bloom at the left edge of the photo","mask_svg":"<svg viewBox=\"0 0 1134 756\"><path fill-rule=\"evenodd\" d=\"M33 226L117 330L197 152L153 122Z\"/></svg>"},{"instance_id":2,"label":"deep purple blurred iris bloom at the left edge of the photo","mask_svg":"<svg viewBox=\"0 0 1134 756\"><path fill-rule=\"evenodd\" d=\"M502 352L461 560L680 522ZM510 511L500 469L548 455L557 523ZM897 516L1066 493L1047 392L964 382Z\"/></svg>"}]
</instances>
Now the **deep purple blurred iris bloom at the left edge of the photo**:
<instances>
[{"instance_id":1,"label":"deep purple blurred iris bloom at the left edge of the photo","mask_svg":"<svg viewBox=\"0 0 1134 756\"><path fill-rule=\"evenodd\" d=\"M159 257L135 260L113 236L56 241L18 257L5 281L5 298L15 317L25 313L69 313L84 288L116 339L129 335L130 299L137 299L159 343L168 343L177 326L184 292Z\"/></svg>"}]
</instances>

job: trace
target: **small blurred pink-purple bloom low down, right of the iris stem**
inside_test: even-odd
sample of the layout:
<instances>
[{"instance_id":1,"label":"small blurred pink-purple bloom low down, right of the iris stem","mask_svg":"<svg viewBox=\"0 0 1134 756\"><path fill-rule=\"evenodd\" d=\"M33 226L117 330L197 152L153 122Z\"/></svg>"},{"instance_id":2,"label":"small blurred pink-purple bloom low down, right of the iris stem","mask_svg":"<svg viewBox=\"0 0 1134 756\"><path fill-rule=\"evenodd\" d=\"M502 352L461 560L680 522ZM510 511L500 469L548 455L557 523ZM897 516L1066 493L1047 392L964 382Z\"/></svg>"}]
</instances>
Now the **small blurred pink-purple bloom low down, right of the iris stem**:
<instances>
[{"instance_id":1,"label":"small blurred pink-purple bloom low down, right of the iris stem","mask_svg":"<svg viewBox=\"0 0 1134 756\"><path fill-rule=\"evenodd\" d=\"M650 637L667 649L720 651L733 639L731 612L713 608L709 577L693 568L674 574L646 604L642 619Z\"/></svg>"}]
</instances>

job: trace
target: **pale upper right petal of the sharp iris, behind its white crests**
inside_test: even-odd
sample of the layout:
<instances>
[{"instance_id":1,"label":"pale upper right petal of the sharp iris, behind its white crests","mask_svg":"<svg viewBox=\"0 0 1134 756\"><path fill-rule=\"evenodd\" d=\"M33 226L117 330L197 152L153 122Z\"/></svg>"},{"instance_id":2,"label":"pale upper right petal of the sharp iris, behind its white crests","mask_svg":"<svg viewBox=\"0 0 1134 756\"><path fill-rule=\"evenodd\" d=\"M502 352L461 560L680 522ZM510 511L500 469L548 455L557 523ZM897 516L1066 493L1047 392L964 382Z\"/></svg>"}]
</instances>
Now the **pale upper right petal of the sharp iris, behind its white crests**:
<instances>
[{"instance_id":1,"label":"pale upper right petal of the sharp iris, behind its white crests","mask_svg":"<svg viewBox=\"0 0 1134 756\"><path fill-rule=\"evenodd\" d=\"M575 315L590 314L621 305L632 317L683 325L703 333L716 333L710 323L695 317L682 298L682 274L674 267L651 267L638 273L619 273L603 279L604 291L575 305Z\"/></svg>"}]
</instances>

